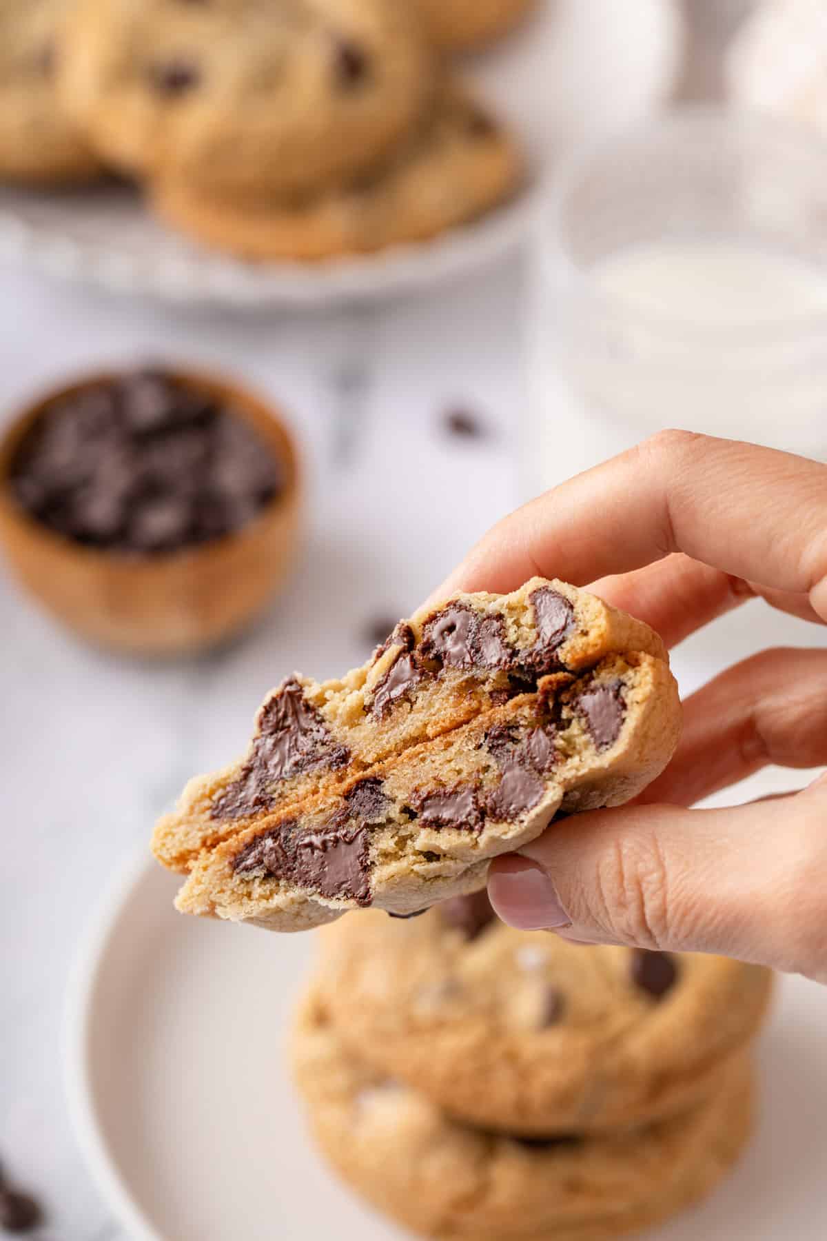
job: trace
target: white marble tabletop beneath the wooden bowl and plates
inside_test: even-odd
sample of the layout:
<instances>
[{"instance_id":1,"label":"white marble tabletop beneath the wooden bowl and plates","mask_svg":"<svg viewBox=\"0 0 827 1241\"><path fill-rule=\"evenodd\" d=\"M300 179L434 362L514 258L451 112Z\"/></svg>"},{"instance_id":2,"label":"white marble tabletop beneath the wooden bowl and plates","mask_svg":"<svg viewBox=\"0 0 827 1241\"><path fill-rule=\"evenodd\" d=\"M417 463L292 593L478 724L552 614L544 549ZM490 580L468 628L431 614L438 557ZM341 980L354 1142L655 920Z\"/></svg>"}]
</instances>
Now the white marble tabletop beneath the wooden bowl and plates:
<instances>
[{"instance_id":1,"label":"white marble tabletop beneath the wooden bowl and plates","mask_svg":"<svg viewBox=\"0 0 827 1241\"><path fill-rule=\"evenodd\" d=\"M325 320L172 314L0 279L4 414L104 359L206 362L284 403L311 473L301 570L245 643L212 658L153 666L89 650L0 576L0 1158L42 1195L41 1241L110 1241L123 1234L81 1164L61 1082L64 984L91 906L185 778L241 748L270 684L360 661L366 622L413 607L513 504L521 273ZM441 437L454 403L491 436ZM575 442L578 465L604 455L588 426L560 417L560 477ZM676 666L692 688L767 643L817 640L751 606L687 643Z\"/></svg>"}]
</instances>

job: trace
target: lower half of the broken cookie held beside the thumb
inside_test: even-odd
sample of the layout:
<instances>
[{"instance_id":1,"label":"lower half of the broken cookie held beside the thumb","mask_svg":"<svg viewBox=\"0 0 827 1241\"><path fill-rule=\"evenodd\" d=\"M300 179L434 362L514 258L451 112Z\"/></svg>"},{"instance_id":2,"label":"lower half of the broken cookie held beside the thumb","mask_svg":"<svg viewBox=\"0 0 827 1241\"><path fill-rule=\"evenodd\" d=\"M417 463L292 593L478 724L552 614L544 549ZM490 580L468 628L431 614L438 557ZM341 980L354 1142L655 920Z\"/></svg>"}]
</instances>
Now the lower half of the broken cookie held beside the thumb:
<instances>
[{"instance_id":1,"label":"lower half of the broken cookie held beside the thumb","mask_svg":"<svg viewBox=\"0 0 827 1241\"><path fill-rule=\"evenodd\" d=\"M441 623L427 640L453 643ZM274 931L367 906L419 911L479 887L491 858L554 814L629 800L668 761L678 721L674 680L652 655L541 678L534 692L203 850L177 907Z\"/></svg>"}]
</instances>

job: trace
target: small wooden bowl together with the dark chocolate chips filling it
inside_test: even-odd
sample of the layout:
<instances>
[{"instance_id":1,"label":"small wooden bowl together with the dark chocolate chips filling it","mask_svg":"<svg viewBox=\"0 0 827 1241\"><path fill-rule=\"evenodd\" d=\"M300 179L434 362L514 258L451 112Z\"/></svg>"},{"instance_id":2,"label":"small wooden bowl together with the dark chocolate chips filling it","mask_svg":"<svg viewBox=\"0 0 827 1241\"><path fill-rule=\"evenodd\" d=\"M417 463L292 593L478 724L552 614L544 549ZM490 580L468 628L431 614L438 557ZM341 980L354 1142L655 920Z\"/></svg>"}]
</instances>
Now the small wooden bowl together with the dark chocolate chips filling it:
<instances>
[{"instance_id":1,"label":"small wooden bowl together with the dark chocolate chips filling it","mask_svg":"<svg viewBox=\"0 0 827 1241\"><path fill-rule=\"evenodd\" d=\"M192 653L248 625L295 557L299 504L278 413L200 372L88 376L0 442L0 544L19 581L130 654Z\"/></svg>"}]
</instances>

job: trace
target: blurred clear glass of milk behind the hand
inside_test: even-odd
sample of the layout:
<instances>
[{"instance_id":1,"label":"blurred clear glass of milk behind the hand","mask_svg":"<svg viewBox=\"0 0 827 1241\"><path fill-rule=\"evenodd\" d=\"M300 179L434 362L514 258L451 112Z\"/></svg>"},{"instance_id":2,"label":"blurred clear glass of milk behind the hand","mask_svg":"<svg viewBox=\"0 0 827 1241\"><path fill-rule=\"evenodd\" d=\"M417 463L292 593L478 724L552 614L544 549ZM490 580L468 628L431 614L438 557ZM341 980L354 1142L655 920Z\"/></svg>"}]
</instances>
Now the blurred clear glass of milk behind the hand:
<instances>
[{"instance_id":1,"label":"blurred clear glass of milk behind the hand","mask_svg":"<svg viewBox=\"0 0 827 1241\"><path fill-rule=\"evenodd\" d=\"M827 146L723 108L604 141L538 213L526 490L663 427L827 460Z\"/></svg>"}]
</instances>

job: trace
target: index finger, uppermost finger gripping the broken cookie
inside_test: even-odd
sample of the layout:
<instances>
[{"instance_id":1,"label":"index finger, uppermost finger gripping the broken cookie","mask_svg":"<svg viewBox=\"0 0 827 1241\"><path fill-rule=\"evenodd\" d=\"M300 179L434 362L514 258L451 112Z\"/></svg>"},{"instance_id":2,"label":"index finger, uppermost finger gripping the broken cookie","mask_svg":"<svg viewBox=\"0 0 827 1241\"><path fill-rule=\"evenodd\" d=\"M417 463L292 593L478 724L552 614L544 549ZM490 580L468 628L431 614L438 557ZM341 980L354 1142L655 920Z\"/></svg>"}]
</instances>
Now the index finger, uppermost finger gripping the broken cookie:
<instances>
[{"instance_id":1,"label":"index finger, uppermost finger gripping the broken cookie","mask_svg":"<svg viewBox=\"0 0 827 1241\"><path fill-rule=\"evenodd\" d=\"M827 618L827 467L733 439L660 432L498 522L439 593L512 591L536 575L583 586L676 551L767 589L807 594Z\"/></svg>"}]
</instances>

